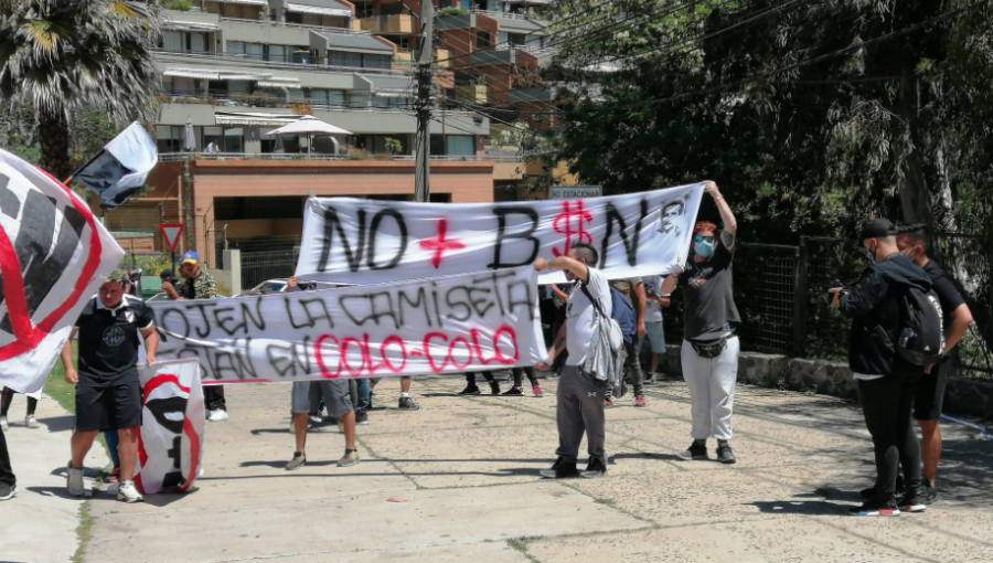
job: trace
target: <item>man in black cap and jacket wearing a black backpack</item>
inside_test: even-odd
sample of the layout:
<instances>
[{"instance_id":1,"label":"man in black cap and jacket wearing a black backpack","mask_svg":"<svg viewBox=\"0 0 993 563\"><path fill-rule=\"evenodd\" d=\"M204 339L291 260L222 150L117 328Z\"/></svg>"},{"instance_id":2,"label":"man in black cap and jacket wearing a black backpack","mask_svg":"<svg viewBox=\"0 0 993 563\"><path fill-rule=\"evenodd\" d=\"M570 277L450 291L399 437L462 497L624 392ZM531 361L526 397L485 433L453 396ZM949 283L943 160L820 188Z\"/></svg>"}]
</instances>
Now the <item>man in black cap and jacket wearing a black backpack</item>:
<instances>
[{"instance_id":1,"label":"man in black cap and jacket wearing a black backpack","mask_svg":"<svg viewBox=\"0 0 993 563\"><path fill-rule=\"evenodd\" d=\"M875 265L854 286L831 289L841 314L852 319L848 365L876 458L875 496L851 509L854 516L926 508L919 495L920 444L910 414L925 368L941 354L941 308L930 278L900 254L895 235L885 219L863 225L862 246ZM896 499L899 466L906 493Z\"/></svg>"}]
</instances>

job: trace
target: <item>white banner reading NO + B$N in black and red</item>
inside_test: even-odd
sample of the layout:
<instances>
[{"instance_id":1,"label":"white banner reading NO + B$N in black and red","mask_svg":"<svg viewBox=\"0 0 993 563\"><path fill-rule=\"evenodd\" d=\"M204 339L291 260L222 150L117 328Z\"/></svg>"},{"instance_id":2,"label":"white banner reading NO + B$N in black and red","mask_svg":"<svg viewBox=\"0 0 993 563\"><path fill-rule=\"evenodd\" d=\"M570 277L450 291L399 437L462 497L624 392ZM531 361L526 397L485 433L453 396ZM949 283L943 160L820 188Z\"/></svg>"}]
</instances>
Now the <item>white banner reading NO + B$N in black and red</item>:
<instances>
[{"instance_id":1,"label":"white banner reading NO + B$N in black and red","mask_svg":"<svg viewBox=\"0 0 993 563\"><path fill-rule=\"evenodd\" d=\"M414 203L310 198L296 275L346 284L532 264L591 244L608 277L668 275L686 262L703 184L607 198ZM540 283L565 280L543 273Z\"/></svg>"}]
</instances>

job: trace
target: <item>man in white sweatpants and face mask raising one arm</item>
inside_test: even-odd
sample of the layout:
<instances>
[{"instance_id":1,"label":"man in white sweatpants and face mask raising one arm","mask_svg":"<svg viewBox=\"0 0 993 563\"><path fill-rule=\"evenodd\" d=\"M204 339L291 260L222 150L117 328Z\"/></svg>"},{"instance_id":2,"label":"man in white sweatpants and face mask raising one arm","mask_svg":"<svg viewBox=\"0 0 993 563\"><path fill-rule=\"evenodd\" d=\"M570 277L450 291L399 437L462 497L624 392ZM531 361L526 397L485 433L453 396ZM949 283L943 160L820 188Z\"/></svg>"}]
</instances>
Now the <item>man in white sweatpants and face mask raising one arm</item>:
<instances>
[{"instance_id":1,"label":"man in white sweatpants and face mask raising one arm","mask_svg":"<svg viewBox=\"0 0 993 563\"><path fill-rule=\"evenodd\" d=\"M692 403L693 444L679 457L708 459L707 439L714 437L717 460L734 464L732 411L740 349L735 328L741 322L732 282L737 222L716 183L706 182L705 191L714 199L724 229L718 232L714 223L697 223L693 227L694 256L681 274L662 284L662 297L669 297L679 285L686 300L681 358Z\"/></svg>"}]
</instances>

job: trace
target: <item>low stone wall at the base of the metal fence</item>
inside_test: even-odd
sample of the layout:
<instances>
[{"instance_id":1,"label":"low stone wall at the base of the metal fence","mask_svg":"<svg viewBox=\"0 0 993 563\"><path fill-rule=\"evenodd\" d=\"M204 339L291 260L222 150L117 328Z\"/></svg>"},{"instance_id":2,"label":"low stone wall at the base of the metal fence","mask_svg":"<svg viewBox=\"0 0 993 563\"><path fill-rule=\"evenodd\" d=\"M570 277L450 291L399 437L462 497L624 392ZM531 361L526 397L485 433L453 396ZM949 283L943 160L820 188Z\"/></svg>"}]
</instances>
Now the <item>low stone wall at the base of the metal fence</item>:
<instances>
[{"instance_id":1,"label":"low stone wall at the base of the metal fence","mask_svg":"<svg viewBox=\"0 0 993 563\"><path fill-rule=\"evenodd\" d=\"M644 361L643 364L648 365L648 362ZM666 375L682 375L679 346L666 347L660 369ZM821 394L848 399L857 397L852 371L843 362L743 352L738 360L738 381L801 391L815 390ZM993 382L952 378L946 390L943 411L952 415L993 419Z\"/></svg>"}]
</instances>

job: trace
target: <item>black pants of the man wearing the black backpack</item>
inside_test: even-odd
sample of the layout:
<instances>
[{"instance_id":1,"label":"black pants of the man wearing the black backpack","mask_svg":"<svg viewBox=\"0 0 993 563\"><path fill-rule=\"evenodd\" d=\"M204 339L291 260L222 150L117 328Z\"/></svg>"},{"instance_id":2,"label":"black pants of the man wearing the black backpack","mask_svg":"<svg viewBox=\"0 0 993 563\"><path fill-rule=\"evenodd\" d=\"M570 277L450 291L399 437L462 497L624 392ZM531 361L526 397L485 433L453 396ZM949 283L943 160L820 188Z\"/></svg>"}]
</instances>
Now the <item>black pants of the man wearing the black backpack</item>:
<instances>
[{"instance_id":1,"label":"black pants of the man wearing the black backpack","mask_svg":"<svg viewBox=\"0 0 993 563\"><path fill-rule=\"evenodd\" d=\"M920 443L910 418L920 375L918 369L901 370L878 380L858 381L858 400L876 454L875 500L893 498L900 466L907 493L914 495L920 487Z\"/></svg>"}]
</instances>

